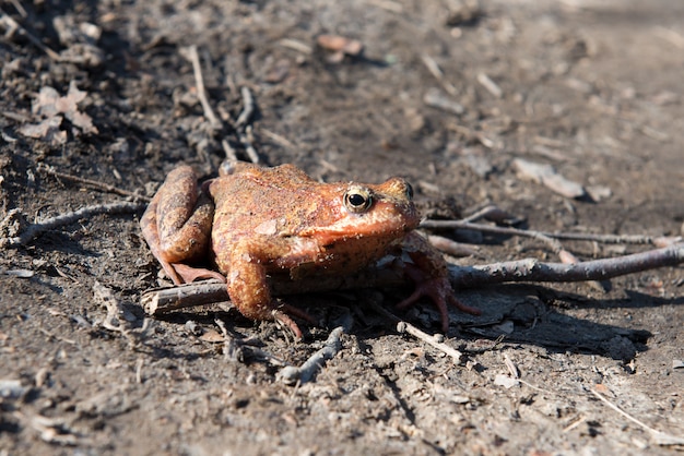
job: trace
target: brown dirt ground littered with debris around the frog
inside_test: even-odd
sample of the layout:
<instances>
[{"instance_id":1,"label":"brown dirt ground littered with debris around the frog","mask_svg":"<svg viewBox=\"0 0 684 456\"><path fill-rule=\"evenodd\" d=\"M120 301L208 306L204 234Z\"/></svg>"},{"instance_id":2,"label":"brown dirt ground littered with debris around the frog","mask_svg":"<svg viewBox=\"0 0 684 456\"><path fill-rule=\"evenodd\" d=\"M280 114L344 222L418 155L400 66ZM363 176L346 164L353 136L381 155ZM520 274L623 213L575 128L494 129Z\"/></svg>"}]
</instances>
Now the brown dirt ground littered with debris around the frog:
<instances>
[{"instance_id":1,"label":"brown dirt ground littered with debris around the frog","mask_svg":"<svg viewBox=\"0 0 684 456\"><path fill-rule=\"evenodd\" d=\"M240 131L266 164L326 181L403 176L432 216L496 204L545 231L682 233L682 2L1 8L1 238L131 200L45 166L150 196L180 163L215 176L222 140L246 159L233 128L243 87L256 111ZM364 51L335 55L316 45L322 34ZM587 194L523 179L520 158L553 165ZM409 290L291 297L325 323L304 341L220 308L145 320L139 299L157 286L158 265L141 213L87 217L0 250L0 455L681 454L652 430L684 435L682 267L605 288L459 291L483 315L451 312L447 344L465 353L455 364L367 305L391 310ZM556 261L533 240L440 233L477 244L455 264ZM645 249L564 244L582 260ZM429 303L403 317L439 327ZM282 365L302 364L340 324L341 351L311 382L284 384Z\"/></svg>"}]
</instances>

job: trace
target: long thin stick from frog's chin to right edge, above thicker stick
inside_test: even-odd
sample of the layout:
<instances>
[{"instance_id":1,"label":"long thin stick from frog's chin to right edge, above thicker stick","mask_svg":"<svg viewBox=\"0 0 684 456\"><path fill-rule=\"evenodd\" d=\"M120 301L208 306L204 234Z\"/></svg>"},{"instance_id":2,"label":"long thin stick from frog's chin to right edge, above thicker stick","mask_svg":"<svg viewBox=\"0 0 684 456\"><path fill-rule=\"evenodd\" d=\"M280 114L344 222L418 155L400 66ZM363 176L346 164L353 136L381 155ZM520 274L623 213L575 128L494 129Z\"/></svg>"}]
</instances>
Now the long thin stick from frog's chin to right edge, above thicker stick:
<instances>
[{"instance_id":1,"label":"long thin stick from frog's chin to right edge, above thicker stick","mask_svg":"<svg viewBox=\"0 0 684 456\"><path fill-rule=\"evenodd\" d=\"M568 241L595 241L602 243L630 243L630 244L672 244L680 242L681 237L668 236L617 236L617 235L592 235L580 232L545 232L535 230L526 230L509 227L498 227L484 224L472 224L461 220L424 220L421 223L422 228L433 229L470 229L473 231L493 232L495 235L521 236L526 238L539 238L540 236L553 239L562 239Z\"/></svg>"}]
</instances>

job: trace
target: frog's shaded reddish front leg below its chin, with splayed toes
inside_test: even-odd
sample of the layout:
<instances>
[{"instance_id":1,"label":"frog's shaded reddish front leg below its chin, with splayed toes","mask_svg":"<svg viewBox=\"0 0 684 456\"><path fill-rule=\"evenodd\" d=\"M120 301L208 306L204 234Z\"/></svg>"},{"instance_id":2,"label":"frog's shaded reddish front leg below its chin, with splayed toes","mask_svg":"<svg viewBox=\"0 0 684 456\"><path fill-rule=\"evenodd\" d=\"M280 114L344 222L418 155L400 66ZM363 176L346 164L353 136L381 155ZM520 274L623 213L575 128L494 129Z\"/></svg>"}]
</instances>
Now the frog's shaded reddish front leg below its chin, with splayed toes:
<instances>
[{"instance_id":1,"label":"frog's shaded reddish front leg below its chin, with splayed toes","mask_svg":"<svg viewBox=\"0 0 684 456\"><path fill-rule=\"evenodd\" d=\"M417 232L411 232L403 241L403 250L413 261L413 264L406 263L404 265L404 273L415 283L415 291L397 304L399 309L408 308L422 297L429 297L439 310L441 331L445 334L449 329L447 304L472 315L482 313L480 309L467 305L453 296L447 263L427 239Z\"/></svg>"}]
</instances>

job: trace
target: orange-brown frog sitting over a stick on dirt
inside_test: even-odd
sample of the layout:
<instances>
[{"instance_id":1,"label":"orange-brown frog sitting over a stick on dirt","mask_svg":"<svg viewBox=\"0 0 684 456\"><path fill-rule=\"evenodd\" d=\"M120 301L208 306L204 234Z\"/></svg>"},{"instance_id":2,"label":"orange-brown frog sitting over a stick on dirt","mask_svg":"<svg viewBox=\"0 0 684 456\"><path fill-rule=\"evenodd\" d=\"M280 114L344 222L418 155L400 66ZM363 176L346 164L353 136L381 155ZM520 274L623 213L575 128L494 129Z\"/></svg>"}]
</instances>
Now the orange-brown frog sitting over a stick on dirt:
<instances>
[{"instance_id":1,"label":"orange-brown frog sitting over a stick on dirt","mask_svg":"<svg viewBox=\"0 0 684 456\"><path fill-rule=\"evenodd\" d=\"M448 304L480 314L456 298L444 256L416 231L420 221L413 189L399 177L379 184L326 183L290 164L226 161L219 177L201 185L190 166L173 169L140 224L174 284L221 280L244 316L280 321L300 339L293 317L315 320L275 300L270 280L351 275L387 255L403 259L398 263L404 277L415 284L397 308L429 298L444 333Z\"/></svg>"}]
</instances>

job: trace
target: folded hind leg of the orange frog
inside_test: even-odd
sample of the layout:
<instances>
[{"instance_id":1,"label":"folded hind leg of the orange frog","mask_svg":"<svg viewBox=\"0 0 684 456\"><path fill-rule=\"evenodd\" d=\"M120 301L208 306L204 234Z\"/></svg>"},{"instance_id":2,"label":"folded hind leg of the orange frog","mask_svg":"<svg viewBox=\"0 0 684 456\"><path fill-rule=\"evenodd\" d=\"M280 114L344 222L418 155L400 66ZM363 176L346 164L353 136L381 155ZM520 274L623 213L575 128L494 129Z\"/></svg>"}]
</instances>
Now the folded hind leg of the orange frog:
<instances>
[{"instance_id":1,"label":"folded hind leg of the orange frog","mask_svg":"<svg viewBox=\"0 0 684 456\"><path fill-rule=\"evenodd\" d=\"M197 176L189 166L168 173L143 214L142 235L174 284L208 277L225 280L216 272L186 264L205 259L213 214L214 205L198 192Z\"/></svg>"}]
</instances>

